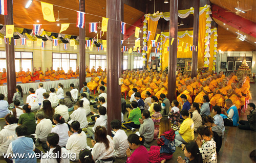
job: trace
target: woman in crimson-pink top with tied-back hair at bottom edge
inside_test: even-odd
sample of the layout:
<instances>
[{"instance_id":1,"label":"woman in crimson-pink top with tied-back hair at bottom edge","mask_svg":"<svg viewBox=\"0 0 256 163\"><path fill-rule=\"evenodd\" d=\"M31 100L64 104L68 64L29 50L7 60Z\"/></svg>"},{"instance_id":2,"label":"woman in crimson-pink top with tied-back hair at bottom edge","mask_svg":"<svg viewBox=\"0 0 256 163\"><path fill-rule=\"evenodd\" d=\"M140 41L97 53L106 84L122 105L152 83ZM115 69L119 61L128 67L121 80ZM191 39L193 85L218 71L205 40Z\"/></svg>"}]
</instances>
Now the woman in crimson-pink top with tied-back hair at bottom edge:
<instances>
[{"instance_id":1,"label":"woman in crimson-pink top with tied-back hair at bottom edge","mask_svg":"<svg viewBox=\"0 0 256 163\"><path fill-rule=\"evenodd\" d=\"M143 146L145 142L145 138L142 135L138 136L137 134L132 133L129 135L127 140L130 148L126 150L126 155L127 155L126 163L150 162L150 156L148 155L146 148ZM134 150L134 152L131 153L130 149Z\"/></svg>"}]
</instances>

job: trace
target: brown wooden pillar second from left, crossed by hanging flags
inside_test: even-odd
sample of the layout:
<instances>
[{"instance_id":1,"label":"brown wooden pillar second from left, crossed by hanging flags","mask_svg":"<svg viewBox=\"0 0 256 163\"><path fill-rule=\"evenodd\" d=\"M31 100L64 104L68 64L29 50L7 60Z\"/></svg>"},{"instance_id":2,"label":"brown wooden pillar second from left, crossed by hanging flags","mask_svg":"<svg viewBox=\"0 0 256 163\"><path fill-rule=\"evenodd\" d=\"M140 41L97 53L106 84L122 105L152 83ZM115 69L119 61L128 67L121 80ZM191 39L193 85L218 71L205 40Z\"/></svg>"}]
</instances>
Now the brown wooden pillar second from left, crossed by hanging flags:
<instances>
[{"instance_id":1,"label":"brown wooden pillar second from left, crossed by hanging flags","mask_svg":"<svg viewBox=\"0 0 256 163\"><path fill-rule=\"evenodd\" d=\"M79 11L86 12L85 0L79 0ZM79 90L82 89L82 83L86 82L86 29L79 28Z\"/></svg>"}]
</instances>

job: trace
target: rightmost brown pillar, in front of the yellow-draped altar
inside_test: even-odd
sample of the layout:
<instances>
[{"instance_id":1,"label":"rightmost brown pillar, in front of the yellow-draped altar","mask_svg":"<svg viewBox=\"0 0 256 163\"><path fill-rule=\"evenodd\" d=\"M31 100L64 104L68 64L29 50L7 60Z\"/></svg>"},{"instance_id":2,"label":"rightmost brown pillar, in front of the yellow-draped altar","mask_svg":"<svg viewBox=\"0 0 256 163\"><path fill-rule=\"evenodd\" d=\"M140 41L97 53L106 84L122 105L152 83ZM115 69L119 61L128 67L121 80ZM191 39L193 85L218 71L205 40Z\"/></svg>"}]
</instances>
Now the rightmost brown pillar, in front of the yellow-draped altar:
<instances>
[{"instance_id":1,"label":"rightmost brown pillar, in front of the yellow-draped altar","mask_svg":"<svg viewBox=\"0 0 256 163\"><path fill-rule=\"evenodd\" d=\"M193 28L193 45L197 47L197 51L192 52L192 70L191 77L197 77L198 65L198 31L199 31L199 4L200 0L194 1L194 28Z\"/></svg>"}]
</instances>

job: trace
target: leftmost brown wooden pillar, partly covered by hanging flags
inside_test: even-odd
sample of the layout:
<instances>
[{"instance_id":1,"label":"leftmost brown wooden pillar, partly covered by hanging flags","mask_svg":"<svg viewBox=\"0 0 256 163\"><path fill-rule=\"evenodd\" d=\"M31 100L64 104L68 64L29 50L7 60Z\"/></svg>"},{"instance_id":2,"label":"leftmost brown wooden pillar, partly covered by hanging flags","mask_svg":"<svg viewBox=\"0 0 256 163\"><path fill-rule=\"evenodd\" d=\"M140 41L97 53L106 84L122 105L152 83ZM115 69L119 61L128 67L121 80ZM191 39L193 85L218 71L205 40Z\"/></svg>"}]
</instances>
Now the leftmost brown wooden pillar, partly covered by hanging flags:
<instances>
[{"instance_id":1,"label":"leftmost brown wooden pillar, partly covered by hanging flags","mask_svg":"<svg viewBox=\"0 0 256 163\"><path fill-rule=\"evenodd\" d=\"M7 1L7 14L5 15L5 24L13 24L12 0ZM15 55L14 55L14 38L6 38L6 65L7 65L7 97L8 102L12 103L13 94L16 92L16 74L15 74ZM11 44L10 44L11 41Z\"/></svg>"}]
</instances>

